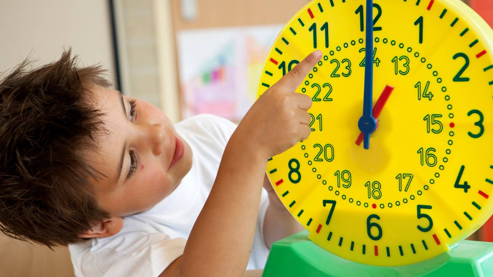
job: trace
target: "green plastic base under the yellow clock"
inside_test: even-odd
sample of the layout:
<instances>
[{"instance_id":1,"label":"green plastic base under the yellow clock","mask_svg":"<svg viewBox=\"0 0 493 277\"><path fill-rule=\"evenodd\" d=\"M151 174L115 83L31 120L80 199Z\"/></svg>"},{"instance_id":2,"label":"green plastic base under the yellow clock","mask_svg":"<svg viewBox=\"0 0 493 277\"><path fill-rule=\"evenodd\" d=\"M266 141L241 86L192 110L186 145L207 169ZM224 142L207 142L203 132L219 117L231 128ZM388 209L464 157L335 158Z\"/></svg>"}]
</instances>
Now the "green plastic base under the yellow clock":
<instances>
[{"instance_id":1,"label":"green plastic base under the yellow clock","mask_svg":"<svg viewBox=\"0 0 493 277\"><path fill-rule=\"evenodd\" d=\"M263 277L493 276L493 242L462 241L433 259L398 267L355 263L308 240L308 231L272 245Z\"/></svg>"}]
</instances>

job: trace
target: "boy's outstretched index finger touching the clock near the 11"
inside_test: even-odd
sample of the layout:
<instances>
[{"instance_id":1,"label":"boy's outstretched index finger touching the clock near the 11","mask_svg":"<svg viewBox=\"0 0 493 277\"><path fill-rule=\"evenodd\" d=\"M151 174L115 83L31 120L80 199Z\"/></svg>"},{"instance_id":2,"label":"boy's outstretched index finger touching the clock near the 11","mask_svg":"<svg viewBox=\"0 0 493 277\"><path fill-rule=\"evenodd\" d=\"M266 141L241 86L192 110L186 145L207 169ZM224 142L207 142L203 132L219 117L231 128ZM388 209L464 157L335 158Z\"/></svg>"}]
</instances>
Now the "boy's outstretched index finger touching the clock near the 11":
<instances>
[{"instance_id":1,"label":"boy's outstretched index finger touching the clock near the 11","mask_svg":"<svg viewBox=\"0 0 493 277\"><path fill-rule=\"evenodd\" d=\"M280 85L286 86L292 91L296 90L301 84L303 79L308 75L308 73L313 69L317 62L322 58L322 51L315 50L310 55L308 55L303 61L297 64L293 69L287 72L278 83Z\"/></svg>"}]
</instances>

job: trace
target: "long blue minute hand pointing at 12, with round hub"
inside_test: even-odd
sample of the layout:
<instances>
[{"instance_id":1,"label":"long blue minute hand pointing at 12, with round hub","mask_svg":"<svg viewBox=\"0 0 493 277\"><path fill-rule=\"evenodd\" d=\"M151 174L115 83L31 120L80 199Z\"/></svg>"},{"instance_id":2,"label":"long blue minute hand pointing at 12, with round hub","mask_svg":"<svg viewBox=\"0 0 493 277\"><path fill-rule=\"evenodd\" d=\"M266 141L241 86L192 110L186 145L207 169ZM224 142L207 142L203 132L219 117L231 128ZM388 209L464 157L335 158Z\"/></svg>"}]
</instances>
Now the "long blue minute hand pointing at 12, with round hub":
<instances>
[{"instance_id":1,"label":"long blue minute hand pointing at 12, with round hub","mask_svg":"<svg viewBox=\"0 0 493 277\"><path fill-rule=\"evenodd\" d=\"M366 50L363 116L358 128L363 133L363 148L370 148L370 134L377 129L377 120L372 115L373 104L373 0L366 0Z\"/></svg>"}]
</instances>

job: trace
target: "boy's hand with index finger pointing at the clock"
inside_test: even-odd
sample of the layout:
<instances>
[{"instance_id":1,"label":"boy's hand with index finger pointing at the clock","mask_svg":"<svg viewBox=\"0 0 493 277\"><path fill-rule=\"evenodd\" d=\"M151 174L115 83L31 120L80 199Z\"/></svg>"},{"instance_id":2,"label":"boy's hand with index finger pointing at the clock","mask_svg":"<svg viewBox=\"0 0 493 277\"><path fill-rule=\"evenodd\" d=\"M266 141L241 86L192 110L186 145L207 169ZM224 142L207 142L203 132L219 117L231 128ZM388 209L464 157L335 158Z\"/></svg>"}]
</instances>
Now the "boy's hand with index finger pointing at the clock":
<instances>
[{"instance_id":1,"label":"boy's hand with index finger pointing at the clock","mask_svg":"<svg viewBox=\"0 0 493 277\"><path fill-rule=\"evenodd\" d=\"M307 110L312 99L295 90L321 57L319 50L308 55L248 110L235 132L237 139L252 146L246 151L257 151L268 159L308 138L311 117Z\"/></svg>"}]
</instances>

